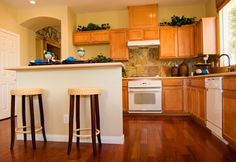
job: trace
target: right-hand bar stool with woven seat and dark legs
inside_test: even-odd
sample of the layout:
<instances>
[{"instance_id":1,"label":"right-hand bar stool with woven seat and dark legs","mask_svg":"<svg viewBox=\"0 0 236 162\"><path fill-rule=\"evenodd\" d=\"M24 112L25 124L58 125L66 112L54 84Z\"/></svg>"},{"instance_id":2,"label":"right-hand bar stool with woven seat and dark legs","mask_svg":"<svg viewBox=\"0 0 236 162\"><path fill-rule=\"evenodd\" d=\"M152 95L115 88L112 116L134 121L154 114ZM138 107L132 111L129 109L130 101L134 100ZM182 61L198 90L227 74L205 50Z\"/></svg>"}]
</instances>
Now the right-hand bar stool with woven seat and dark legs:
<instances>
[{"instance_id":1,"label":"right-hand bar stool with woven seat and dark legs","mask_svg":"<svg viewBox=\"0 0 236 162\"><path fill-rule=\"evenodd\" d=\"M77 146L79 146L80 138L92 137L93 154L96 155L96 136L99 146L101 143L100 136L100 117L99 117L99 103L98 95L101 94L99 88L69 88L68 94L70 95L70 110L69 110L69 140L68 150L69 155L72 147L73 135L77 138ZM91 128L80 128L80 96L90 96L91 105ZM74 118L74 97L76 97L76 129L73 131L73 118ZM83 135L81 131L91 130L91 134Z\"/></svg>"}]
</instances>

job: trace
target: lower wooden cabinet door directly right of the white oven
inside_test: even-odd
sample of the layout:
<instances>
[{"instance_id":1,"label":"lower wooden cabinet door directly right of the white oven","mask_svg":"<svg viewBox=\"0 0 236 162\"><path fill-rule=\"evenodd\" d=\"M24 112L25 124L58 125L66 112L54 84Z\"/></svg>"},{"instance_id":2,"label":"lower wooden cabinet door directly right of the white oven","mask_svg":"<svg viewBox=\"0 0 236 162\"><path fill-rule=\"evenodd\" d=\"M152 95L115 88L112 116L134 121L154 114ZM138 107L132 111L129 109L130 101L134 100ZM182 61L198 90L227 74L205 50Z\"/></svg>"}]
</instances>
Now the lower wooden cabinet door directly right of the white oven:
<instances>
[{"instance_id":1,"label":"lower wooden cabinet door directly right of the white oven","mask_svg":"<svg viewBox=\"0 0 236 162\"><path fill-rule=\"evenodd\" d=\"M163 111L183 111L183 87L163 87L162 90Z\"/></svg>"}]
</instances>

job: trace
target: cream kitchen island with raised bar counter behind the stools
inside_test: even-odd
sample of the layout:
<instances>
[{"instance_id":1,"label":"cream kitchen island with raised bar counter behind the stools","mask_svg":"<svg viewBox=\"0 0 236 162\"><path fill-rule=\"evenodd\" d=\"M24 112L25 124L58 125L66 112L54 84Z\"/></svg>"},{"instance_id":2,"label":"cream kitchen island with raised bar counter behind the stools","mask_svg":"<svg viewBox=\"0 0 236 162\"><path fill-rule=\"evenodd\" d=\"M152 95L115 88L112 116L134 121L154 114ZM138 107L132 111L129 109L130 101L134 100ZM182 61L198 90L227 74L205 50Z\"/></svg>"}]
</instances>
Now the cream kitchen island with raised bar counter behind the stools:
<instances>
[{"instance_id":1,"label":"cream kitchen island with raised bar counter behind the stools","mask_svg":"<svg viewBox=\"0 0 236 162\"><path fill-rule=\"evenodd\" d=\"M122 144L122 66L122 63L90 63L25 66L7 70L16 71L17 87L45 90L43 105L48 141L68 140L68 88L97 87L102 89L99 96L102 143ZM18 124L21 123L19 106L20 100L17 101ZM86 96L81 98L80 113L81 127L90 127L90 102ZM38 116L38 104L35 101L36 126L39 123ZM36 137L37 140L43 139L41 133ZM18 135L17 139L23 139L23 136Z\"/></svg>"}]
</instances>

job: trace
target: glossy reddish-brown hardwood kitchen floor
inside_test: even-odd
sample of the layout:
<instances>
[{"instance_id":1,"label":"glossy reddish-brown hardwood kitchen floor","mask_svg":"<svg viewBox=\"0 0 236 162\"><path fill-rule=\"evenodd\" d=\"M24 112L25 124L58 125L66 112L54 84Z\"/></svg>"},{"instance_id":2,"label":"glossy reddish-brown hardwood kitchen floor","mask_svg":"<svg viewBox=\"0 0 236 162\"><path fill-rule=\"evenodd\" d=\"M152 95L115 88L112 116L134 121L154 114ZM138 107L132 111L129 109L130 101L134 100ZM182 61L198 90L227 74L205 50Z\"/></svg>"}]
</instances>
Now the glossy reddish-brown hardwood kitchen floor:
<instances>
[{"instance_id":1,"label":"glossy reddish-brown hardwood kitchen floor","mask_svg":"<svg viewBox=\"0 0 236 162\"><path fill-rule=\"evenodd\" d=\"M10 151L10 122L0 121L0 162L236 162L236 152L188 117L124 117L124 145L103 144L97 156L91 144L17 141Z\"/></svg>"}]
</instances>

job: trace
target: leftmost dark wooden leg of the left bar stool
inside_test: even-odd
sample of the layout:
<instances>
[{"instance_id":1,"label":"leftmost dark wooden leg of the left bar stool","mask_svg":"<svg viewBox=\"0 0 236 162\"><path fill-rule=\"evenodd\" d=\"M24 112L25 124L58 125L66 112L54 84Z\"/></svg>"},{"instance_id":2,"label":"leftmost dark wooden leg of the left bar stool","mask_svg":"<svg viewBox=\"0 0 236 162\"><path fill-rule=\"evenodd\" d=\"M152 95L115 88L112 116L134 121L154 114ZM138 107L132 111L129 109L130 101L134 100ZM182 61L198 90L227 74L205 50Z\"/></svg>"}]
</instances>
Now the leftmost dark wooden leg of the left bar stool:
<instances>
[{"instance_id":1,"label":"leftmost dark wooden leg of the left bar stool","mask_svg":"<svg viewBox=\"0 0 236 162\"><path fill-rule=\"evenodd\" d=\"M11 150L15 142L15 96L11 96Z\"/></svg>"}]
</instances>

